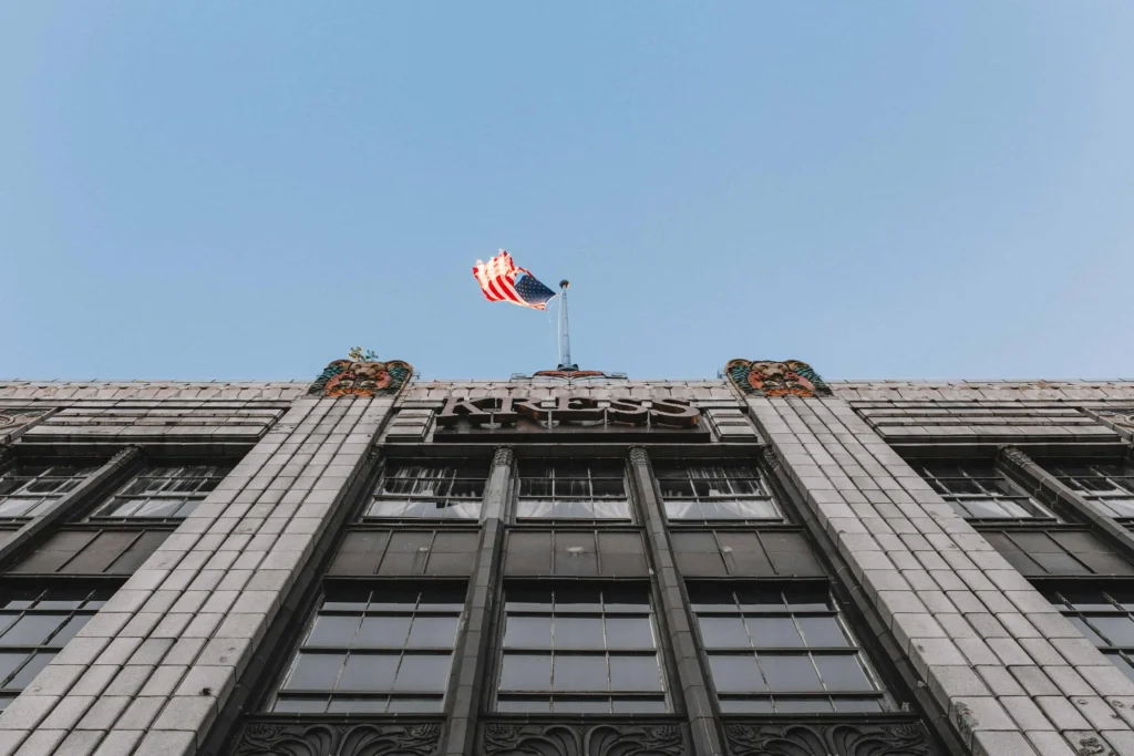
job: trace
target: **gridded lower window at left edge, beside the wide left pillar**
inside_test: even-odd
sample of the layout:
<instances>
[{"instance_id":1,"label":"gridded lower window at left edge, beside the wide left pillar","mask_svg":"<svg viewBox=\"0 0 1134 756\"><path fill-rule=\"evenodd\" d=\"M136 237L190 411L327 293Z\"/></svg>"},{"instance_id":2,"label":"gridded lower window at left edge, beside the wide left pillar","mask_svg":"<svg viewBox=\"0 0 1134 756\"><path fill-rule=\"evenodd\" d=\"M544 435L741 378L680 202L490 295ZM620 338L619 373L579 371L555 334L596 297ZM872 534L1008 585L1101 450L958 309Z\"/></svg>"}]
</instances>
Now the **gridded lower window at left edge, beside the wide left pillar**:
<instances>
[{"instance_id":1,"label":"gridded lower window at left edge, beside the wide left pillar","mask_svg":"<svg viewBox=\"0 0 1134 756\"><path fill-rule=\"evenodd\" d=\"M0 708L62 651L113 589L0 589Z\"/></svg>"}]
</instances>

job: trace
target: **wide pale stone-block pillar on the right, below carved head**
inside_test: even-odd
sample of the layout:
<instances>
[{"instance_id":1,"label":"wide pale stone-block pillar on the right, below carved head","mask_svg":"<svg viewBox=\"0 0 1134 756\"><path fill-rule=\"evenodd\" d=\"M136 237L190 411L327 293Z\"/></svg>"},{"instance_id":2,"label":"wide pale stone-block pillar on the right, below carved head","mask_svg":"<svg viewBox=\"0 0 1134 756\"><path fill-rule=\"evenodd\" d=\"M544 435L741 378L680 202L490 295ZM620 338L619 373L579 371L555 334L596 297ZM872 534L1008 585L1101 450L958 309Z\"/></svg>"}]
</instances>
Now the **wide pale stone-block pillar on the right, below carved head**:
<instances>
[{"instance_id":1,"label":"wide pale stone-block pillar on the right, below carved head","mask_svg":"<svg viewBox=\"0 0 1134 756\"><path fill-rule=\"evenodd\" d=\"M972 753L1134 754L1134 683L848 404L746 401Z\"/></svg>"}]
</instances>

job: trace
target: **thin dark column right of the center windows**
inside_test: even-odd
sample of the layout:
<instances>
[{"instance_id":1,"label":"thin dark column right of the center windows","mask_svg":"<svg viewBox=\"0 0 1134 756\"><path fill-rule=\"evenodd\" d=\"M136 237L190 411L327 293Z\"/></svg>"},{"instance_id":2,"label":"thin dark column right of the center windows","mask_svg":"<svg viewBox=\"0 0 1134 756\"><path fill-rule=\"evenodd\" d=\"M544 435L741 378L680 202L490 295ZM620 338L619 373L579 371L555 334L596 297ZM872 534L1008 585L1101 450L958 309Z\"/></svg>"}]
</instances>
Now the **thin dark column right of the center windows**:
<instances>
[{"instance_id":1,"label":"thin dark column right of the center windows","mask_svg":"<svg viewBox=\"0 0 1134 756\"><path fill-rule=\"evenodd\" d=\"M631 449L629 459L631 478L637 499L642 503L643 525L653 554L653 568L661 594L659 609L665 614L669 628L670 645L677 662L677 680L688 712L693 751L697 756L725 754L721 730L713 712L712 696L697 655L697 646L693 640L689 615L685 610L682 576L674 562L669 536L666 533L666 518L653 487L650 456L642 447L634 447Z\"/></svg>"}]
</instances>

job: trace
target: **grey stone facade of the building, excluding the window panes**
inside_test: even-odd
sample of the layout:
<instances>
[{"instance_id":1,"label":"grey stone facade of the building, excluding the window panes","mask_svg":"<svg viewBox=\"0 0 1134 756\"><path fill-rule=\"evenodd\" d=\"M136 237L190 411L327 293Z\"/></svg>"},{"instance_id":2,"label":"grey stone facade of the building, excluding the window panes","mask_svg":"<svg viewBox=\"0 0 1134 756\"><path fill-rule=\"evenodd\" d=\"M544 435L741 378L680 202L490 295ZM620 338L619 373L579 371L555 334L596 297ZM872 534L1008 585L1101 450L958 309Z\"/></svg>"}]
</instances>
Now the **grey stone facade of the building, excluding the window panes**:
<instances>
[{"instance_id":1,"label":"grey stone facade of the building, excluding the window panes","mask_svg":"<svg viewBox=\"0 0 1134 756\"><path fill-rule=\"evenodd\" d=\"M1069 619L1078 610L1051 600L1134 596L1129 521L1059 472L1067 460L1129 466L1134 381L820 383L831 396L760 396L727 379L409 381L390 396L341 397L308 396L306 382L0 383L0 474L75 459L93 470L34 515L0 509L0 592L36 580L112 594L14 688L0 756L1134 755L1134 682L1112 663L1123 643L1103 644L1105 655ZM481 404L450 401L460 399ZM651 402L671 402L674 417L692 408L699 422L645 421ZM447 405L457 409L442 428ZM543 425L524 435L489 417L517 405ZM615 422L616 409L643 421ZM587 458L624 466L625 520L519 521L526 460ZM217 459L231 469L184 517L92 515L145 465ZM399 459L483 460L479 516L369 518L369 492ZM691 459L759 467L782 520L678 523L661 470ZM922 469L942 460L987 465L1044 516L963 516ZM84 557L49 559L64 541L127 533L129 549L151 543L133 561L83 571L67 566ZM1022 567L1027 549L1005 545L1040 536L1067 544L1039 560L1042 574ZM95 541L84 543L75 553ZM383 580L462 586L440 707L268 711L322 592L393 585ZM853 696L841 694L821 696L836 702L824 714L726 706L693 596L801 580L828 586L862 640L878 711L847 713L838 702ZM644 586L663 711L517 714L493 703L501 591L576 583Z\"/></svg>"}]
</instances>

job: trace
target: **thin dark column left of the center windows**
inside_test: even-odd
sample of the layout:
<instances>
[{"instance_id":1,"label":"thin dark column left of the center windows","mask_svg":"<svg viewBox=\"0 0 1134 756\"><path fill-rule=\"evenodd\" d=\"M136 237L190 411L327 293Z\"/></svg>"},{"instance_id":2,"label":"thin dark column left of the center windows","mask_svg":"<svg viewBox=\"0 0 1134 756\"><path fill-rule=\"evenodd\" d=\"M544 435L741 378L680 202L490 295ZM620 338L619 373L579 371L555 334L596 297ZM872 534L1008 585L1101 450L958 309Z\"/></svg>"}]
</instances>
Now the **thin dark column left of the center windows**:
<instances>
[{"instance_id":1,"label":"thin dark column left of the center windows","mask_svg":"<svg viewBox=\"0 0 1134 756\"><path fill-rule=\"evenodd\" d=\"M476 571L468 586L468 614L465 632L454 660L455 670L446 705L446 730L441 736L438 755L463 756L476 749L476 725L485 696L485 665L489 662L492 613L499 595L498 559L503 541L503 519L507 515L508 493L516 456L510 447L498 447L492 457L492 472L484 491L484 511L481 516L481 540L476 555Z\"/></svg>"}]
</instances>

